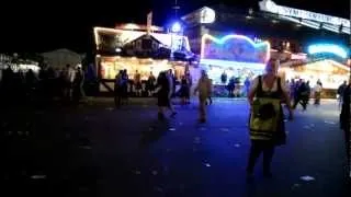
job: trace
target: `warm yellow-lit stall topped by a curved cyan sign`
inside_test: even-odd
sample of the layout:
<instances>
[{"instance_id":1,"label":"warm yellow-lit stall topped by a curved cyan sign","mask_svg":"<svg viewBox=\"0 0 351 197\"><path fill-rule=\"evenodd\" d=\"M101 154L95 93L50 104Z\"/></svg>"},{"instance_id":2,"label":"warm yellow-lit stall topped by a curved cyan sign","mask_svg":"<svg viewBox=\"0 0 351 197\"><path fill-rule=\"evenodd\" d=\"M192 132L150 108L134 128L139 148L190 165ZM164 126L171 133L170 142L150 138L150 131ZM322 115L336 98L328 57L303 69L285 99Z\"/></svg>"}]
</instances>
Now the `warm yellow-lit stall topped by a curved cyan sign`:
<instances>
[{"instance_id":1,"label":"warm yellow-lit stall topped by a curved cyan sign","mask_svg":"<svg viewBox=\"0 0 351 197\"><path fill-rule=\"evenodd\" d=\"M307 47L308 57L295 63L281 63L280 72L285 79L304 79L314 86L322 83L327 97L335 97L336 90L350 78L347 63L348 49L336 44L314 44Z\"/></svg>"}]
</instances>

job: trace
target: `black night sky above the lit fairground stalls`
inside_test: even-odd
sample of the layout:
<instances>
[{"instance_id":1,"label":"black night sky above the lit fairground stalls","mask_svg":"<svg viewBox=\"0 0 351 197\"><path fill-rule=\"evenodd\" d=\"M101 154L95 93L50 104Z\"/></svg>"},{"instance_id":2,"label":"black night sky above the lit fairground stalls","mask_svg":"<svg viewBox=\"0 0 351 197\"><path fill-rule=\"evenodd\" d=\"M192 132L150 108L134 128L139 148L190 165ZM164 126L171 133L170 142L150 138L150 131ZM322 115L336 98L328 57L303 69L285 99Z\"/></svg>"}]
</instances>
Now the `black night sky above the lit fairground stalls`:
<instances>
[{"instance_id":1,"label":"black night sky above the lit fairground stalls","mask_svg":"<svg viewBox=\"0 0 351 197\"><path fill-rule=\"evenodd\" d=\"M165 25L172 16L174 0L53 0L36 2L10 1L10 13L0 12L1 51L45 51L66 47L77 51L91 49L92 26L114 26L116 23L146 23L146 14L154 11L157 25ZM178 0L181 14L202 5L225 3L236 8L258 7L258 0ZM349 19L350 1L275 0L278 4L316 11ZM326 1L327 2L327 1ZM5 9L2 5L2 9Z\"/></svg>"}]
</instances>

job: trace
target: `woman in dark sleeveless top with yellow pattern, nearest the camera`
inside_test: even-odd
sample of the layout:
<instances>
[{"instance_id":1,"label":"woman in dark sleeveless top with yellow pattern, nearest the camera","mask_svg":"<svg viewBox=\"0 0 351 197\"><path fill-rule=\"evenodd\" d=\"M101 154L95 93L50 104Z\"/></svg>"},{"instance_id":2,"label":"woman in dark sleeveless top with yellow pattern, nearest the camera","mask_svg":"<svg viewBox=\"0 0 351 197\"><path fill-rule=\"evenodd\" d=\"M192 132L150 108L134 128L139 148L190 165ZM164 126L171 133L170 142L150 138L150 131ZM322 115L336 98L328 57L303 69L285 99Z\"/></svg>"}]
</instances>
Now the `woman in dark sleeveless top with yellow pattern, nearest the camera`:
<instances>
[{"instance_id":1,"label":"woman in dark sleeveless top with yellow pattern, nearest the camera","mask_svg":"<svg viewBox=\"0 0 351 197\"><path fill-rule=\"evenodd\" d=\"M251 148L247 165L248 178L253 176L257 159L263 152L263 175L271 177L271 162L276 146L285 144L285 125L282 101L288 107L290 119L293 118L290 97L285 82L278 77L278 63L270 60L265 73L257 77L248 95L250 111Z\"/></svg>"}]
</instances>

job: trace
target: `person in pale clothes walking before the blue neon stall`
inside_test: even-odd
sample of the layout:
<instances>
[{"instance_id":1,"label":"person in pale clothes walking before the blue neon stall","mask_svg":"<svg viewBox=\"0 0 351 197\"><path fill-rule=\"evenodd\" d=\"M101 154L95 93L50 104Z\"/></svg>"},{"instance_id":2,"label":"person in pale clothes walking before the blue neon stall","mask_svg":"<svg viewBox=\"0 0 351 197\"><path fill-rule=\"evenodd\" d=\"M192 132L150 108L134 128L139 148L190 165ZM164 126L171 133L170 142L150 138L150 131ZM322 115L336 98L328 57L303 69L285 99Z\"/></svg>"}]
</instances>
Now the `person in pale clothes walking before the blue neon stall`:
<instances>
[{"instance_id":1,"label":"person in pale clothes walking before the blue neon stall","mask_svg":"<svg viewBox=\"0 0 351 197\"><path fill-rule=\"evenodd\" d=\"M208 79L206 71L202 70L201 78L199 80L197 86L194 90L194 93L199 92L199 109L200 109L200 123L206 121L206 101L212 93L212 84Z\"/></svg>"}]
</instances>

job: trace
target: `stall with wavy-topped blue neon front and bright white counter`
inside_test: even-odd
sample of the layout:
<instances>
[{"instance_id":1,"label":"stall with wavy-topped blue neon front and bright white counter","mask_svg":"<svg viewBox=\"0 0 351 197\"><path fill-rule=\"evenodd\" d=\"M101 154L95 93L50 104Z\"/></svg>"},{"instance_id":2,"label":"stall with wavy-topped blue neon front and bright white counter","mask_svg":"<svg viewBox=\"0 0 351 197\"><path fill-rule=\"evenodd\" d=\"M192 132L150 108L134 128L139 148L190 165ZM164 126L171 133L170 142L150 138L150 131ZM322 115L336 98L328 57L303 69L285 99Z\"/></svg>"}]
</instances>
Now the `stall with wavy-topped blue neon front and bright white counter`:
<instances>
[{"instance_id":1,"label":"stall with wavy-topped blue neon front and bright white counter","mask_svg":"<svg viewBox=\"0 0 351 197\"><path fill-rule=\"evenodd\" d=\"M207 70L214 84L223 84L223 73L228 79L239 78L240 82L246 78L252 79L262 73L269 58L269 42L254 43L247 36L236 34L222 38L208 34L202 37L200 65Z\"/></svg>"}]
</instances>

